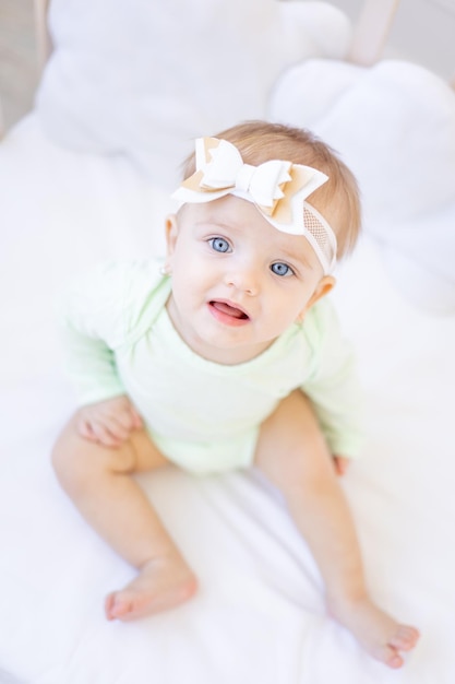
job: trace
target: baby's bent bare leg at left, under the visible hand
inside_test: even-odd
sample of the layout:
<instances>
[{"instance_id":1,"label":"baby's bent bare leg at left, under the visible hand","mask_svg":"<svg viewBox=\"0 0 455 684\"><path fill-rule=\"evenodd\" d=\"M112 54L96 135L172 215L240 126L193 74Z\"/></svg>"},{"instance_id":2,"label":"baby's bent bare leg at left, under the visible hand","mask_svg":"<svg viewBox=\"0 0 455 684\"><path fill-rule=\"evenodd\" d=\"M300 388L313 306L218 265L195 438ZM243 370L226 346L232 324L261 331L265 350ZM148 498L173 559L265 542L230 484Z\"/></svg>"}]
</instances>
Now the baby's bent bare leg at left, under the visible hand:
<instances>
[{"instance_id":1,"label":"baby's bent bare leg at left, under the visible hand","mask_svg":"<svg viewBox=\"0 0 455 684\"><path fill-rule=\"evenodd\" d=\"M52 453L62 487L84 518L139 576L109 594L109 620L133 620L187 601L196 580L132 473L167 463L144 431L120 447L83 439L72 420Z\"/></svg>"}]
</instances>

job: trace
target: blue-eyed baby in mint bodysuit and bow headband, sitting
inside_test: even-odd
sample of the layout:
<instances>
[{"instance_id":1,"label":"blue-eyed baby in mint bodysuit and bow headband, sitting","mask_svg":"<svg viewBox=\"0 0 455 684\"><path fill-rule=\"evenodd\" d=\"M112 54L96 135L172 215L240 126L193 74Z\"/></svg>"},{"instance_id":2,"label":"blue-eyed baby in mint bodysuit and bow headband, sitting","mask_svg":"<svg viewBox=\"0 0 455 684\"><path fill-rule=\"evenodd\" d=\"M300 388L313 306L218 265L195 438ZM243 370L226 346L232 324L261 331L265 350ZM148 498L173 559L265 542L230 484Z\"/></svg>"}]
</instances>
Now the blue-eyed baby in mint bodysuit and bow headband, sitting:
<instances>
[{"instance_id":1,"label":"blue-eyed baby in mint bodysuit and bow headband, sitting","mask_svg":"<svg viewBox=\"0 0 455 684\"><path fill-rule=\"evenodd\" d=\"M308 131L250 121L196 141L175 198L165 261L104 266L64 310L81 408L53 465L139 570L106 615L164 611L197 587L134 473L255 467L308 542L330 613L399 668L419 635L370 598L337 480L359 449L359 397L324 297L358 236L356 181Z\"/></svg>"}]
</instances>

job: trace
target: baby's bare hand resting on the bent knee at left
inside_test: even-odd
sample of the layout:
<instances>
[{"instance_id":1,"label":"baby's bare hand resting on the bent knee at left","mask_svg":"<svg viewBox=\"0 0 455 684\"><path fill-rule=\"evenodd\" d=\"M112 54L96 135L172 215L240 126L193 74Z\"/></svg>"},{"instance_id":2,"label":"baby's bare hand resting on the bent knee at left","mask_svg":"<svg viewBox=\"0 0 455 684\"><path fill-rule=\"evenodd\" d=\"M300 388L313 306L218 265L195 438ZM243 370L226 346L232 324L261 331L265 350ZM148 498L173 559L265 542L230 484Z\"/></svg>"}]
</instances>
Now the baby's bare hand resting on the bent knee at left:
<instances>
[{"instance_id":1,"label":"baby's bare hand resting on the bent knee at left","mask_svg":"<svg viewBox=\"0 0 455 684\"><path fill-rule=\"evenodd\" d=\"M81 437L106 447L118 447L134 429L143 426L142 418L128 397L83 406L76 414L76 429Z\"/></svg>"}]
</instances>

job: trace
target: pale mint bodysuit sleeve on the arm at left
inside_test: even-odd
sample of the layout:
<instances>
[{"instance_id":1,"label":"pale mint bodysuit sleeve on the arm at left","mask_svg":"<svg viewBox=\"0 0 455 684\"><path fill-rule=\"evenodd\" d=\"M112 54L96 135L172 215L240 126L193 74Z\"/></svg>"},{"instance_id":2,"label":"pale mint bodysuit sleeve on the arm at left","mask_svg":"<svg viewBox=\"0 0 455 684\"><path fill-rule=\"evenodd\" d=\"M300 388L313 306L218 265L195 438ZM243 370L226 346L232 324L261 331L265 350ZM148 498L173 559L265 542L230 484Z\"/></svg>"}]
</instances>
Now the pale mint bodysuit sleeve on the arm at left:
<instances>
[{"instance_id":1,"label":"pale mint bodysuit sleeve on the arm at left","mask_svg":"<svg viewBox=\"0 0 455 684\"><path fill-rule=\"evenodd\" d=\"M63 354L80 404L124 392L116 351L141 320L157 273L156 264L106 263L79 279L64 295L59 307Z\"/></svg>"}]
</instances>

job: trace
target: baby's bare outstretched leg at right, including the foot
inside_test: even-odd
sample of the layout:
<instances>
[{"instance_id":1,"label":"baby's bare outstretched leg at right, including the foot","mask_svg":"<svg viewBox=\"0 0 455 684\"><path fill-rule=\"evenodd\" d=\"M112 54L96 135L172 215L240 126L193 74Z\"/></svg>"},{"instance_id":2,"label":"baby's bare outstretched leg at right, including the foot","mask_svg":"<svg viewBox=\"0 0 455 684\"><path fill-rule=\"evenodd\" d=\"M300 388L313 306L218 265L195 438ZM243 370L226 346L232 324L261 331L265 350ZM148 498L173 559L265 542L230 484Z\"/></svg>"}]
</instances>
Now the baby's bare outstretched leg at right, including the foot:
<instances>
[{"instance_id":1,"label":"baby's bare outstretched leg at right, including the foot","mask_svg":"<svg viewBox=\"0 0 455 684\"><path fill-rule=\"evenodd\" d=\"M359 544L331 455L310 402L296 391L262 425L255 464L283 492L325 581L331 614L378 660L403 664L417 642L370 599Z\"/></svg>"}]
</instances>

